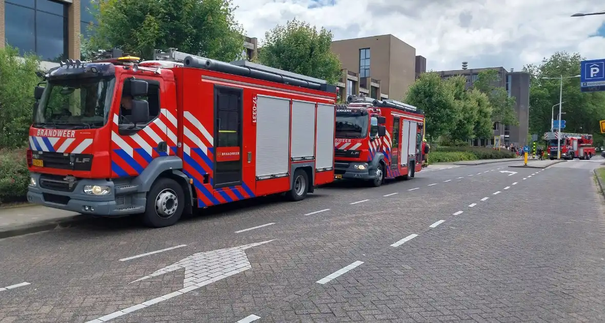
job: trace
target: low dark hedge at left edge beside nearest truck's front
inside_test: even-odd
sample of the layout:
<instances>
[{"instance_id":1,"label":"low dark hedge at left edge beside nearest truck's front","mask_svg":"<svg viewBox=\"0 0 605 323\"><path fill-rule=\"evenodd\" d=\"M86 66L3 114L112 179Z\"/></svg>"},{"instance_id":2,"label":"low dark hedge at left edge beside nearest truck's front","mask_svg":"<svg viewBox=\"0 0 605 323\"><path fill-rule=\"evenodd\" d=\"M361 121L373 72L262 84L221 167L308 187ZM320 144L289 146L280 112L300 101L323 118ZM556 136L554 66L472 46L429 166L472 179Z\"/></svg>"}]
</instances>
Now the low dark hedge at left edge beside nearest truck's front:
<instances>
[{"instance_id":1,"label":"low dark hedge at left edge beside nearest truck's front","mask_svg":"<svg viewBox=\"0 0 605 323\"><path fill-rule=\"evenodd\" d=\"M0 205L25 201L29 179L25 149L0 150Z\"/></svg>"}]
</instances>

